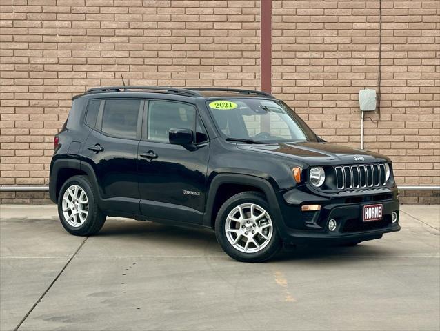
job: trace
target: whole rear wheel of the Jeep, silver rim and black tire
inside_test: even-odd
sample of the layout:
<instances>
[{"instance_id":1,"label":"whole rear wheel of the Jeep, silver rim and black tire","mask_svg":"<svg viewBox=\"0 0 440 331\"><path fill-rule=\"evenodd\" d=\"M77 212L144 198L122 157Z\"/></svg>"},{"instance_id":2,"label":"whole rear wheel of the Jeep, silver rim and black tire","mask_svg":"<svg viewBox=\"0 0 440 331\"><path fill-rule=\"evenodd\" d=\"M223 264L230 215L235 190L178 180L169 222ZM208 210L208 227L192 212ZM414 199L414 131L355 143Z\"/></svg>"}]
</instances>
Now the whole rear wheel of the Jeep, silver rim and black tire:
<instances>
[{"instance_id":1,"label":"whole rear wheel of the Jeep, silver rim and black tire","mask_svg":"<svg viewBox=\"0 0 440 331\"><path fill-rule=\"evenodd\" d=\"M76 236L90 236L106 221L96 202L97 194L86 176L70 177L61 187L58 215L63 227Z\"/></svg>"}]
</instances>

